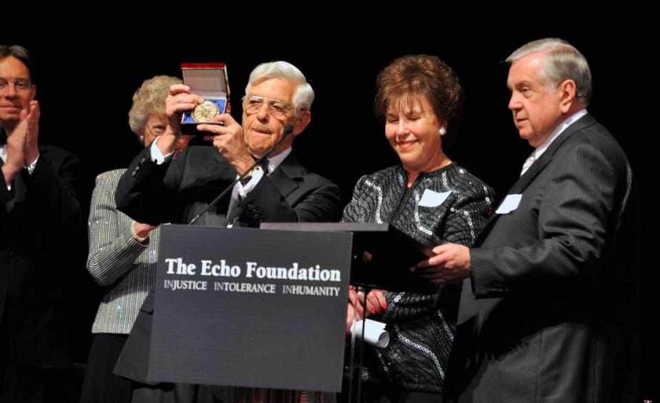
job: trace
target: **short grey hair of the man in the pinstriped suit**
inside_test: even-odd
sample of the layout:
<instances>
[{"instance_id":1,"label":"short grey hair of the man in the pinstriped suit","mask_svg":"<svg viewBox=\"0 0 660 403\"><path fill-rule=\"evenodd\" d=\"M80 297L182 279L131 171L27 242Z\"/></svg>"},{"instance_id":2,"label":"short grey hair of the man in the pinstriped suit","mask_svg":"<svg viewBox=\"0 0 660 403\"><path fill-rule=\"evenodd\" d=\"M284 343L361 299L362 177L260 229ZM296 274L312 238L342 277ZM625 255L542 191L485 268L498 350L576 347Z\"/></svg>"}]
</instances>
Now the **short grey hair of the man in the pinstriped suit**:
<instances>
[{"instance_id":1,"label":"short grey hair of the man in the pinstriped suit","mask_svg":"<svg viewBox=\"0 0 660 403\"><path fill-rule=\"evenodd\" d=\"M543 73L541 79L546 85L559 85L567 78L575 81L577 99L584 105L591 100L591 71L586 58L573 45L558 38L531 41L518 47L507 57L512 64L521 58L543 52Z\"/></svg>"}]
</instances>

